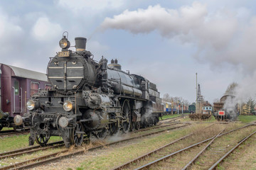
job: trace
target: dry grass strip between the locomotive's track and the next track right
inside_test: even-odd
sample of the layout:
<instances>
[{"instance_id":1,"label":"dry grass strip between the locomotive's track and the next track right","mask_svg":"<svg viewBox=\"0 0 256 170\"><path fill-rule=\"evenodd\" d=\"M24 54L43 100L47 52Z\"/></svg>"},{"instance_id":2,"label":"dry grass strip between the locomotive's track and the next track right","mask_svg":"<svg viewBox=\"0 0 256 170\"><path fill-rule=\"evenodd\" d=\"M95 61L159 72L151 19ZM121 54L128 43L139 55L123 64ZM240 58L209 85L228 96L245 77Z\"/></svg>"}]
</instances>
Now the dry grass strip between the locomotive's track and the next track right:
<instances>
[{"instance_id":1,"label":"dry grass strip between the locomotive's track and the next track right","mask_svg":"<svg viewBox=\"0 0 256 170\"><path fill-rule=\"evenodd\" d=\"M92 152L85 152L83 155L68 159L68 163L65 161L67 159L63 159L63 161L58 164L58 169L64 169L63 167L66 167L65 169L67 169L67 167L76 169L76 167L79 166L78 164L80 164L79 169L111 169L114 166L124 164L135 157L139 157L152 149L166 145L190 132L190 128L171 130L138 140L121 142L117 145L107 147L106 149L103 148L96 149ZM75 162L72 160L75 160ZM54 169L54 167L53 164L50 164L49 166L41 167L41 169Z\"/></svg>"}]
</instances>

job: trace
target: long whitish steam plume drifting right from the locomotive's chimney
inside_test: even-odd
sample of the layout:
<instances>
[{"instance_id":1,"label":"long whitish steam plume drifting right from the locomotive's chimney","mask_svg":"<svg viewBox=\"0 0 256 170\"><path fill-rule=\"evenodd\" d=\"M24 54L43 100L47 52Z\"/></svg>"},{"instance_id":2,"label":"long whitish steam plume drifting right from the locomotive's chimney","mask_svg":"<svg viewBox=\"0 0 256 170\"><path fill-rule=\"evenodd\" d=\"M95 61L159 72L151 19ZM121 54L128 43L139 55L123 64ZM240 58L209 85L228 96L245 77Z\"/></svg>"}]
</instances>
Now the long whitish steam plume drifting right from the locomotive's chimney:
<instances>
[{"instance_id":1,"label":"long whitish steam plume drifting right from the locomotive's chimney","mask_svg":"<svg viewBox=\"0 0 256 170\"><path fill-rule=\"evenodd\" d=\"M157 31L164 38L196 45L193 57L199 62L212 67L230 64L242 72L252 72L256 62L256 16L249 17L248 13L246 8L223 8L210 13L199 2L178 9L156 5L105 18L100 29L127 30L133 34Z\"/></svg>"}]
</instances>

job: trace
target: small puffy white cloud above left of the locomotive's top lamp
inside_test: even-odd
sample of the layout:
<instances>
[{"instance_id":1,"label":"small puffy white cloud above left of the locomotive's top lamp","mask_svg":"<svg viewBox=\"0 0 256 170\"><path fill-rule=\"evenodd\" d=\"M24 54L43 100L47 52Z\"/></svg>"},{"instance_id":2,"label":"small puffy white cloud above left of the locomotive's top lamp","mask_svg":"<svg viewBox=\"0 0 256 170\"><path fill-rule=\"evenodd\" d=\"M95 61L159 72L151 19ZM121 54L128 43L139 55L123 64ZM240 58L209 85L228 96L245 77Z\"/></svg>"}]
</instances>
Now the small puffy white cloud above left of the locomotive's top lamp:
<instances>
[{"instance_id":1,"label":"small puffy white cloud above left of the locomotive's top lamp","mask_svg":"<svg viewBox=\"0 0 256 170\"><path fill-rule=\"evenodd\" d=\"M52 40L59 37L62 28L58 23L50 23L46 17L38 18L32 28L32 35L36 40Z\"/></svg>"}]
</instances>

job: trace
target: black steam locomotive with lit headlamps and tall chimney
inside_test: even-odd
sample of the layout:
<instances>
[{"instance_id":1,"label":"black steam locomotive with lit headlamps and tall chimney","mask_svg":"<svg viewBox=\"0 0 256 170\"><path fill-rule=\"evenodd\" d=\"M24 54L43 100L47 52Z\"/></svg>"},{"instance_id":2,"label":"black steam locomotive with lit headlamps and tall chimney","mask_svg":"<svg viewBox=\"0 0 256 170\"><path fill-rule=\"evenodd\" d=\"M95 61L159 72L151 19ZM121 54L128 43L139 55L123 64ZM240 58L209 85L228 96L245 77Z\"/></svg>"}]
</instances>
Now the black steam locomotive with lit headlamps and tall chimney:
<instances>
[{"instance_id":1,"label":"black steam locomotive with lit headlamps and tall chimney","mask_svg":"<svg viewBox=\"0 0 256 170\"><path fill-rule=\"evenodd\" d=\"M62 48L47 68L52 90L40 90L26 103L28 113L16 115L16 125L30 128L29 145L46 145L61 136L66 147L85 137L102 138L122 130L156 125L163 112L156 84L121 70L117 60L92 59L86 38L75 38L76 51L63 33Z\"/></svg>"}]
</instances>

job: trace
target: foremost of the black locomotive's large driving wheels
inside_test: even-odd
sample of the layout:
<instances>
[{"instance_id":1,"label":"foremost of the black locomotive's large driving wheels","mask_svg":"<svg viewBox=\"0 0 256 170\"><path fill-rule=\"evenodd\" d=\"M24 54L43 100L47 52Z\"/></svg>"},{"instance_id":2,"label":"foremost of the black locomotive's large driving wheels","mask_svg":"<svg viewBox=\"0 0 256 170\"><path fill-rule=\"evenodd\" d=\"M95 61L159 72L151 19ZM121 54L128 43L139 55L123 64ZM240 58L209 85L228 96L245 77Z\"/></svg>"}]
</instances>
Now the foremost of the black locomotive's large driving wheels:
<instances>
[{"instance_id":1,"label":"foremost of the black locomotive's large driving wheels","mask_svg":"<svg viewBox=\"0 0 256 170\"><path fill-rule=\"evenodd\" d=\"M127 133L131 125L131 108L127 100L122 105L122 117L128 119L128 121L122 123L122 130L124 133Z\"/></svg>"}]
</instances>

